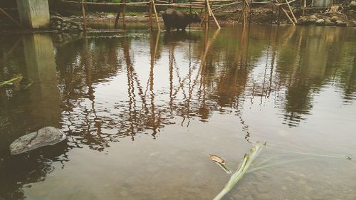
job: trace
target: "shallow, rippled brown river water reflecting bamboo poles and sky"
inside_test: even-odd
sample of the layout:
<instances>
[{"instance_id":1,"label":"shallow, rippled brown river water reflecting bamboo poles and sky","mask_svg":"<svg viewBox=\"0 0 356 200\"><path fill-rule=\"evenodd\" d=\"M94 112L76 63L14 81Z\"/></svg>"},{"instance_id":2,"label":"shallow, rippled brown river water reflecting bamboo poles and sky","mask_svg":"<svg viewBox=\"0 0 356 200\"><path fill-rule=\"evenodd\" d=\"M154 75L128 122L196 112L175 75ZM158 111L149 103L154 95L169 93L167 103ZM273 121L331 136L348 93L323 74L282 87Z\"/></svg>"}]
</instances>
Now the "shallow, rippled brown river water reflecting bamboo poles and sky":
<instances>
[{"instance_id":1,"label":"shallow, rippled brown river water reflecting bamboo poles and sky","mask_svg":"<svg viewBox=\"0 0 356 200\"><path fill-rule=\"evenodd\" d=\"M213 199L257 141L226 199L356 199L355 28L128 30L0 36L0 199Z\"/></svg>"}]
</instances>

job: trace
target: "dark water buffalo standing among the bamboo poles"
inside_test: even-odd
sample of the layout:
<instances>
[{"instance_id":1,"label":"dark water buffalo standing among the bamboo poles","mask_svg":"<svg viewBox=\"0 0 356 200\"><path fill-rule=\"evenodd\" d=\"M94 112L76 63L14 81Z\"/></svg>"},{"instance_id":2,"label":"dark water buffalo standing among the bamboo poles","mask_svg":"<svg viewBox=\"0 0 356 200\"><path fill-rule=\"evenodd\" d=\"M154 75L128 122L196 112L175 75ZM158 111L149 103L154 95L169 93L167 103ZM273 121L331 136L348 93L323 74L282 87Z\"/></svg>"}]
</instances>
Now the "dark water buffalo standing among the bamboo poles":
<instances>
[{"instance_id":1,"label":"dark water buffalo standing among the bamboo poles","mask_svg":"<svg viewBox=\"0 0 356 200\"><path fill-rule=\"evenodd\" d=\"M167 9L164 11L162 18L166 31L171 31L171 28L177 28L177 31L179 31L179 29L185 31L185 27L187 27L189 23L200 22L197 13L186 14L182 11L176 11L174 9Z\"/></svg>"}]
</instances>

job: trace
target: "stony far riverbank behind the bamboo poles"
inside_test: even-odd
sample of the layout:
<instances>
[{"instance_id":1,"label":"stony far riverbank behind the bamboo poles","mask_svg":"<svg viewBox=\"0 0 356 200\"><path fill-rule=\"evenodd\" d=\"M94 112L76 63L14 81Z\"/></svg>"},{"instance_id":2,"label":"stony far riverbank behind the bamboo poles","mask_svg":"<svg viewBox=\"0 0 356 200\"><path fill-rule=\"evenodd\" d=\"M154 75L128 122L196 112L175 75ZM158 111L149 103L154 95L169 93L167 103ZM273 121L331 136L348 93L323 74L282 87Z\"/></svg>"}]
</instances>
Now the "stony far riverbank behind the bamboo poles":
<instances>
[{"instance_id":1,"label":"stony far riverbank behind the bamboo poles","mask_svg":"<svg viewBox=\"0 0 356 200\"><path fill-rule=\"evenodd\" d=\"M288 11L287 11L288 12ZM214 11L216 19L219 23L241 23L241 8L231 6L219 11ZM290 14L290 13L289 13ZM253 24L269 24L291 26L293 23L300 26L349 26L356 27L356 1L345 1L343 4L334 4L330 8L306 8L303 11L300 8L294 8L293 19L288 19L283 11L278 10L276 6L254 6L251 11L251 23ZM202 16L202 14L201 14ZM290 16L292 16L290 14ZM56 21L53 21L55 19ZM58 19L60 19L58 21ZM110 12L88 12L86 20L88 23L115 23L116 14ZM122 16L120 16L122 21ZM127 12L125 15L127 22L148 22L148 12ZM163 22L159 16L159 22ZM248 20L250 22L250 20ZM211 19L212 23L212 19ZM21 32L11 21L0 18L1 33L13 32L15 30ZM80 32L83 31L82 16L79 11L66 11L63 16L52 12L51 14L51 32ZM26 30L23 32L33 33L38 32Z\"/></svg>"}]
</instances>

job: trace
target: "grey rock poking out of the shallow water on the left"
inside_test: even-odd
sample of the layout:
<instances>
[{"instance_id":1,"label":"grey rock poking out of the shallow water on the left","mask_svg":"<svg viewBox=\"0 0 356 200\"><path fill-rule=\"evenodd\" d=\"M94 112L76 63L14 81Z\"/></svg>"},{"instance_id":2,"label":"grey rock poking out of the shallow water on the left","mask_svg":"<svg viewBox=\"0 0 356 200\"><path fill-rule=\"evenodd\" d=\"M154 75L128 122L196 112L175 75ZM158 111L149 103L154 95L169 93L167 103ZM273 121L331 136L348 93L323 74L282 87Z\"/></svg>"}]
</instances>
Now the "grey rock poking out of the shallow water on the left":
<instances>
[{"instance_id":1,"label":"grey rock poking out of the shallow water on the left","mask_svg":"<svg viewBox=\"0 0 356 200\"><path fill-rule=\"evenodd\" d=\"M23 135L10 144L11 154L21 154L39 147L57 144L66 140L66 135L55 127L43 127L37 132Z\"/></svg>"}]
</instances>

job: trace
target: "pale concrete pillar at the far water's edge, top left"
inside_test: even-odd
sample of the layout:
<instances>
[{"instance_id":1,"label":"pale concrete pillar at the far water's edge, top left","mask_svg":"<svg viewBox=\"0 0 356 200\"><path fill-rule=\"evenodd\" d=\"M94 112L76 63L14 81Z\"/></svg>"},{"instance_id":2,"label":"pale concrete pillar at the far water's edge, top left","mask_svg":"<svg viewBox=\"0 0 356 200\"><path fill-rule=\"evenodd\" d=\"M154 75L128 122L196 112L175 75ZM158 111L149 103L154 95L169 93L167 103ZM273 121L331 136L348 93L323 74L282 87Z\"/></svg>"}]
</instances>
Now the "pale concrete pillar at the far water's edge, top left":
<instances>
[{"instance_id":1,"label":"pale concrete pillar at the far water's edge, top left","mask_svg":"<svg viewBox=\"0 0 356 200\"><path fill-rule=\"evenodd\" d=\"M26 28L48 28L48 0L16 0L20 21Z\"/></svg>"}]
</instances>

